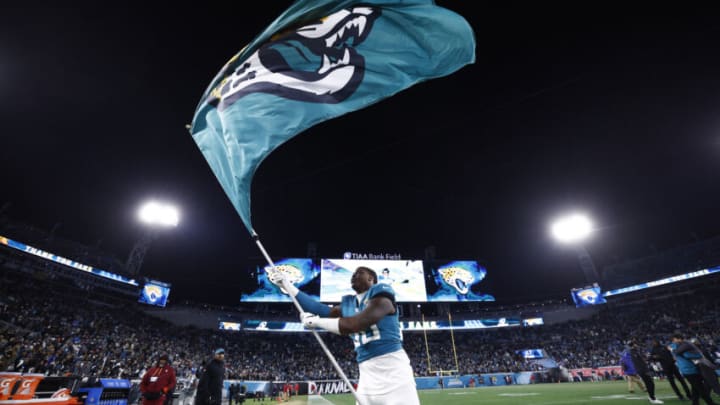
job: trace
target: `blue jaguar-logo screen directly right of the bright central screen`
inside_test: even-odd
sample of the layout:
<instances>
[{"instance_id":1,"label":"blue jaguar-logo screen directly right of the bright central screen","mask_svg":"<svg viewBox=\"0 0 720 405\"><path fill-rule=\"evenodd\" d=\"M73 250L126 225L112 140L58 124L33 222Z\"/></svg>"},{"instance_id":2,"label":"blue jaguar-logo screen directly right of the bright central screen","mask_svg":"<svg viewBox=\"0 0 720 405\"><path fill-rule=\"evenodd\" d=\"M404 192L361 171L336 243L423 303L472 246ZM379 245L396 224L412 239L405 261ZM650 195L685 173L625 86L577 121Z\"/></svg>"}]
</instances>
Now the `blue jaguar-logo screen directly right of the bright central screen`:
<instances>
[{"instance_id":1,"label":"blue jaguar-logo screen directly right of the bright central screen","mask_svg":"<svg viewBox=\"0 0 720 405\"><path fill-rule=\"evenodd\" d=\"M428 262L427 300L430 302L495 301L483 291L487 270L473 260Z\"/></svg>"}]
</instances>

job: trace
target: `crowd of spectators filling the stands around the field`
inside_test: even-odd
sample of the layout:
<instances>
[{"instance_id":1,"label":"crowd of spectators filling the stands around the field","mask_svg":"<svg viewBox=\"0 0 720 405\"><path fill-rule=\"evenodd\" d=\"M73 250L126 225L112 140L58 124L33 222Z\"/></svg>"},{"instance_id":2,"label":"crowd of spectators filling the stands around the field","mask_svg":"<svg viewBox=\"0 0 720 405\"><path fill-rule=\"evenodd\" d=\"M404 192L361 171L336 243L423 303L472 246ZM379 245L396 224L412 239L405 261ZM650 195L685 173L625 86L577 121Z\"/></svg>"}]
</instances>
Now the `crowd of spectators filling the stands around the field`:
<instances>
[{"instance_id":1,"label":"crowd of spectators filling the stands around the field","mask_svg":"<svg viewBox=\"0 0 720 405\"><path fill-rule=\"evenodd\" d=\"M718 351L717 284L692 295L606 305L592 319L555 325L475 331L406 332L404 346L418 376L435 370L495 373L542 369L517 354L543 349L568 369L616 366L625 342L668 342L676 331ZM178 377L191 378L226 350L227 378L323 380L338 378L309 333L231 332L178 327L146 315L140 304L102 300L92 291L0 273L0 370L140 378L161 354ZM357 377L350 339L322 335L349 377ZM453 348L452 341L455 342ZM428 359L427 353L430 354ZM457 366L456 366L457 359Z\"/></svg>"}]
</instances>

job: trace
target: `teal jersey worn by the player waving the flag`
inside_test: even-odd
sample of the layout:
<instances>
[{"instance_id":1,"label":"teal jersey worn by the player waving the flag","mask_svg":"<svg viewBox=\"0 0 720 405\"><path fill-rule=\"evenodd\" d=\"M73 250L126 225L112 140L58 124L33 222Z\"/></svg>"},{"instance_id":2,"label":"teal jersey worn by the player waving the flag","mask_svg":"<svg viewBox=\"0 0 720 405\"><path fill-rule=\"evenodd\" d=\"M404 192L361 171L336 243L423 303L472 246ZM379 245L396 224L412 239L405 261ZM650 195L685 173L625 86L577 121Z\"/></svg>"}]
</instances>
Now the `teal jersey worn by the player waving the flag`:
<instances>
[{"instance_id":1,"label":"teal jersey worn by the player waving the flag","mask_svg":"<svg viewBox=\"0 0 720 405\"><path fill-rule=\"evenodd\" d=\"M392 287L383 283L375 284L362 300L358 300L356 295L344 296L340 307L342 316L347 318L362 312L373 297L387 297L395 304L395 291ZM394 314L385 315L364 332L351 334L350 338L355 344L358 363L402 349L402 332L397 310Z\"/></svg>"}]
</instances>

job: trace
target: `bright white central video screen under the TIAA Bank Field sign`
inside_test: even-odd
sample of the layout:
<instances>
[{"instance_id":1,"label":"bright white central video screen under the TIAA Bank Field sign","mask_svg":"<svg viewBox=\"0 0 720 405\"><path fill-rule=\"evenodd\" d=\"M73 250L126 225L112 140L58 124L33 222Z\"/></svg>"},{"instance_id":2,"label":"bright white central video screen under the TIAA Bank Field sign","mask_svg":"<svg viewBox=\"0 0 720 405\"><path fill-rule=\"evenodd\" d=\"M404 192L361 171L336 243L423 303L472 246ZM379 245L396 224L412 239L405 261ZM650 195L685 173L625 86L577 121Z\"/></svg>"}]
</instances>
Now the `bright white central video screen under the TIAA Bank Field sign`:
<instances>
[{"instance_id":1,"label":"bright white central video screen under the TIAA Bank Field sign","mask_svg":"<svg viewBox=\"0 0 720 405\"><path fill-rule=\"evenodd\" d=\"M358 267L374 270L378 282L393 288L397 302L427 300L422 260L322 259L320 301L340 302L343 295L355 294L350 277Z\"/></svg>"}]
</instances>

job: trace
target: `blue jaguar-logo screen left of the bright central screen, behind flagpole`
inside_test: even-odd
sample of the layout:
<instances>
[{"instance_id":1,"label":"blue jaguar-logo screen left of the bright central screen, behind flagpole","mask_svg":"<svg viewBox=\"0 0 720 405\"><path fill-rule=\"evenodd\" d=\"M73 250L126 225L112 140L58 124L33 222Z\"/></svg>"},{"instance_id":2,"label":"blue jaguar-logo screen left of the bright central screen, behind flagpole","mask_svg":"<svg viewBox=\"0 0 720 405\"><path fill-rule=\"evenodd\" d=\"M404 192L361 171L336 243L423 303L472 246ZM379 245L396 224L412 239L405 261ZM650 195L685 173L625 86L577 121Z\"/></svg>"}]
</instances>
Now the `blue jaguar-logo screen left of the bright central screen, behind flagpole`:
<instances>
[{"instance_id":1,"label":"blue jaguar-logo screen left of the bright central screen, behind flagpole","mask_svg":"<svg viewBox=\"0 0 720 405\"><path fill-rule=\"evenodd\" d=\"M275 262L279 271L295 284L301 291L314 298L318 297L318 276L320 270L308 258L285 258ZM267 277L267 264L255 268L257 288L240 296L241 302L291 302L289 296L284 294Z\"/></svg>"}]
</instances>

